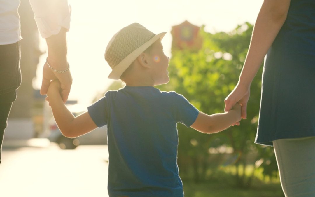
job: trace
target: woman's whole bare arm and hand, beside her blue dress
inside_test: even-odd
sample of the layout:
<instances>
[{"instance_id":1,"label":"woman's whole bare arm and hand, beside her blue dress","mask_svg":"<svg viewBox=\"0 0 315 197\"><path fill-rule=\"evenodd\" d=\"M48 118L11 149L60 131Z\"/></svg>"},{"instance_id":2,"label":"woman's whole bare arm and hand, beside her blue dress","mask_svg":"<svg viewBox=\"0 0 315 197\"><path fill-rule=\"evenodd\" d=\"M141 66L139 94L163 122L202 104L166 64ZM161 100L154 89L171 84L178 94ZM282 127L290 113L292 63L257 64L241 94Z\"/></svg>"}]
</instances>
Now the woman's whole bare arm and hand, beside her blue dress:
<instances>
[{"instance_id":1,"label":"woman's whole bare arm and hand, beside her blue dress","mask_svg":"<svg viewBox=\"0 0 315 197\"><path fill-rule=\"evenodd\" d=\"M264 0L255 22L238 84L225 99L225 111L229 111L238 102L242 106L242 118L246 118L250 84L286 20L289 5L290 0Z\"/></svg>"}]
</instances>

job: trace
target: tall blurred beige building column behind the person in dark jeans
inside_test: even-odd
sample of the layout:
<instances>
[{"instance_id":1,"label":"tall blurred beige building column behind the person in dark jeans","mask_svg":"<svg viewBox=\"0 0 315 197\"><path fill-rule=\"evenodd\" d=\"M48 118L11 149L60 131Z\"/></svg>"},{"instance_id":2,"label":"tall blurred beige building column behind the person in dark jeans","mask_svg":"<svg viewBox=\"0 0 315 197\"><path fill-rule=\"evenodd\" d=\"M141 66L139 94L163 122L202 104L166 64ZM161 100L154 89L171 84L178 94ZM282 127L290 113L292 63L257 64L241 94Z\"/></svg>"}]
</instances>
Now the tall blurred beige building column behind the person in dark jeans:
<instances>
[{"instance_id":1,"label":"tall blurred beige building column behind the person in dark jeans","mask_svg":"<svg viewBox=\"0 0 315 197\"><path fill-rule=\"evenodd\" d=\"M43 53L39 50L39 32L29 0L21 0L19 14L23 38L20 41L22 83L9 115L4 138L28 139L36 136L32 120L35 101L32 80L36 76L39 56ZM44 98L37 97L37 105L38 102L43 102Z\"/></svg>"}]
</instances>

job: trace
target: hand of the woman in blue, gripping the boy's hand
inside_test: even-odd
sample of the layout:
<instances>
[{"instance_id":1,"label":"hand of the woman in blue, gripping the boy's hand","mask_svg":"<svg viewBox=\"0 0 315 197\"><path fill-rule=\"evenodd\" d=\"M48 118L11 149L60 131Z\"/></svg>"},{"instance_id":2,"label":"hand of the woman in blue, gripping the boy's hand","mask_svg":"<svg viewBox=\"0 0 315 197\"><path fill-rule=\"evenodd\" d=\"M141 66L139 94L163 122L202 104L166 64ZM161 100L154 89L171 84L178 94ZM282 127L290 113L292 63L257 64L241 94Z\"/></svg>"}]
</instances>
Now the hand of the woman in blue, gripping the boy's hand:
<instances>
[{"instance_id":1,"label":"hand of the woman in blue, gripping the boy's hand","mask_svg":"<svg viewBox=\"0 0 315 197\"><path fill-rule=\"evenodd\" d=\"M241 84L237 84L232 90L232 92L226 97L225 109L224 111L230 111L234 105L240 105L241 107L241 118L246 119L246 107L247 102L249 100L250 95L250 86L244 86ZM235 125L239 125L239 121L235 123ZM234 126L234 125L233 125Z\"/></svg>"}]
</instances>

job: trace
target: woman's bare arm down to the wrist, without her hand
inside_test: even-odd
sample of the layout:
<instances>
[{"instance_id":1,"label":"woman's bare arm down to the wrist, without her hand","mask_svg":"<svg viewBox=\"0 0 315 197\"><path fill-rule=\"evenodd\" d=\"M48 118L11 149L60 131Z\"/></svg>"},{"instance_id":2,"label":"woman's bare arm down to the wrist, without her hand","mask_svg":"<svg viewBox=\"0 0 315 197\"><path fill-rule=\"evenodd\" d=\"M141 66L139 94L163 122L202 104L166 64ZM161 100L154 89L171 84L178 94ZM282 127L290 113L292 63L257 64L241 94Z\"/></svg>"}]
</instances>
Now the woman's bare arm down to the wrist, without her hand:
<instances>
[{"instance_id":1,"label":"woman's bare arm down to the wrist, without her hand","mask_svg":"<svg viewBox=\"0 0 315 197\"><path fill-rule=\"evenodd\" d=\"M264 0L239 78L240 84L250 86L268 49L287 18L289 5L290 0Z\"/></svg>"}]
</instances>

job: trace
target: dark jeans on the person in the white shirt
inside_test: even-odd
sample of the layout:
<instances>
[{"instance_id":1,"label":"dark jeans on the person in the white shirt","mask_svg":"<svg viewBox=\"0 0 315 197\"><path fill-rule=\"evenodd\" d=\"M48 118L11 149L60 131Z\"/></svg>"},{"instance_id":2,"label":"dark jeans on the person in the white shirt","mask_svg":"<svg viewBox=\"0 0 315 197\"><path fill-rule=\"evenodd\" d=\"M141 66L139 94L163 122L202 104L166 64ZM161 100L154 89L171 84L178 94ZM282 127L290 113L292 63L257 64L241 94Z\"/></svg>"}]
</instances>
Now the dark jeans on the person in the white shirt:
<instances>
[{"instance_id":1,"label":"dark jeans on the person in the white shirt","mask_svg":"<svg viewBox=\"0 0 315 197\"><path fill-rule=\"evenodd\" d=\"M0 164L4 129L20 84L20 42L0 45Z\"/></svg>"}]
</instances>

